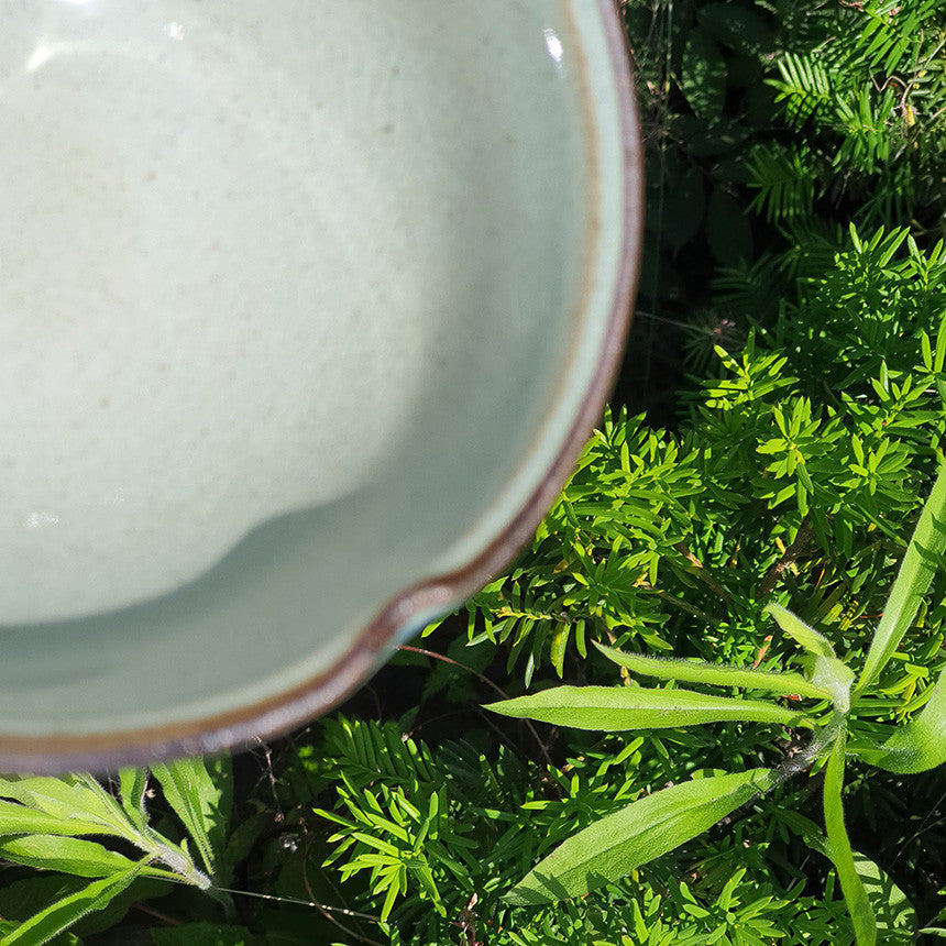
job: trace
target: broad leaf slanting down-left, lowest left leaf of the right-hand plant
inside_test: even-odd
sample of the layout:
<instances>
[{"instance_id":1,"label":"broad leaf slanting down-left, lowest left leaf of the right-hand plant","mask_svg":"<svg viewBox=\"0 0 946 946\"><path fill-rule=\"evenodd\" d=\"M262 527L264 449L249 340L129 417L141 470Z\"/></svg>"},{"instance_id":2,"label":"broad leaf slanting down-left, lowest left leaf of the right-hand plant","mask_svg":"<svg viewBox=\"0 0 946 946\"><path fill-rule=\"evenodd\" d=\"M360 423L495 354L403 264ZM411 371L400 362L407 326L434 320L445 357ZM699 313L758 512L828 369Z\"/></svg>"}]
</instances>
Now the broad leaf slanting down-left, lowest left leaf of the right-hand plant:
<instances>
[{"instance_id":1,"label":"broad leaf slanting down-left, lowest left leaf of the right-hand plant","mask_svg":"<svg viewBox=\"0 0 946 946\"><path fill-rule=\"evenodd\" d=\"M583 895L702 834L770 783L770 769L755 769L654 792L563 842L505 900L537 905Z\"/></svg>"}]
</instances>

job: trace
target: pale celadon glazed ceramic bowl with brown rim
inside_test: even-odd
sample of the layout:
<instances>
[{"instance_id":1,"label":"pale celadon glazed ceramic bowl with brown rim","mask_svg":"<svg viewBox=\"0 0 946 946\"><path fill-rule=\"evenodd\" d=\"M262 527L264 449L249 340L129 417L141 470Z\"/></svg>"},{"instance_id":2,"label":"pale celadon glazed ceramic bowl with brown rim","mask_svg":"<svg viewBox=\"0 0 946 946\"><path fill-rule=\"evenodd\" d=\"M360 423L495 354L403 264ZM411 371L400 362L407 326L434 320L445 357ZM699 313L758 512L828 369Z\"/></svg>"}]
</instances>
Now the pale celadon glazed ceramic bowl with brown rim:
<instances>
[{"instance_id":1,"label":"pale celadon glazed ceramic bowl with brown rim","mask_svg":"<svg viewBox=\"0 0 946 946\"><path fill-rule=\"evenodd\" d=\"M618 15L0 12L0 769L285 732L507 564L598 419Z\"/></svg>"}]
</instances>

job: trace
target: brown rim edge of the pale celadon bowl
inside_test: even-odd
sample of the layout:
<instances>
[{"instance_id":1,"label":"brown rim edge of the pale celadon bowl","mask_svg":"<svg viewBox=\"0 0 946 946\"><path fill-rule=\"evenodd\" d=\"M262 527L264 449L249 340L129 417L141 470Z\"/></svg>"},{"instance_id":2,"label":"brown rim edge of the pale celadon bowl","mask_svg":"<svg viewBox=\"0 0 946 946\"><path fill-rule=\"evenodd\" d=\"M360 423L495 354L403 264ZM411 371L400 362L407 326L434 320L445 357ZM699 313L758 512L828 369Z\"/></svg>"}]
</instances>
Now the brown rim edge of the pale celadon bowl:
<instances>
[{"instance_id":1,"label":"brown rim edge of the pale celadon bowl","mask_svg":"<svg viewBox=\"0 0 946 946\"><path fill-rule=\"evenodd\" d=\"M644 238L644 158L627 37L615 0L596 0L607 35L618 95L624 146L624 234L612 311L597 370L564 442L525 507L469 565L425 581L391 601L331 671L267 701L187 723L106 735L0 736L6 771L54 774L114 771L162 759L246 748L327 713L361 686L421 614L448 610L502 571L527 542L564 486L579 453L601 419L624 353L637 288Z\"/></svg>"}]
</instances>

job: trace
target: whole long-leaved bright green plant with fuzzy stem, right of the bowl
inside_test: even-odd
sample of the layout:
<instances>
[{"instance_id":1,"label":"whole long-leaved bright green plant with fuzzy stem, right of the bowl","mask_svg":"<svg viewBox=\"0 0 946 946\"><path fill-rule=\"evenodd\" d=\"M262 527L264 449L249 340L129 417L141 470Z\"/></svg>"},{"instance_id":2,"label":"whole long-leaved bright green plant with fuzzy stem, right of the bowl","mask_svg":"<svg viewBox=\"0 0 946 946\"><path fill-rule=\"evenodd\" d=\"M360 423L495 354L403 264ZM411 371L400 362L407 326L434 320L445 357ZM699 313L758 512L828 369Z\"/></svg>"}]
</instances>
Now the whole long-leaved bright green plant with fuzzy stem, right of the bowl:
<instances>
[{"instance_id":1,"label":"whole long-leaved bright green plant with fuzzy stem, right of the bowl","mask_svg":"<svg viewBox=\"0 0 946 946\"><path fill-rule=\"evenodd\" d=\"M829 641L779 605L769 605L769 612L807 652L807 673L803 678L723 664L654 660L601 647L615 663L645 676L780 695L796 693L829 706L821 718L815 715L817 706L815 713L804 717L769 702L705 696L701 691L676 686L557 688L492 704L488 708L504 715L586 729L627 730L732 718L795 725L805 722L815 728L801 759L789 760L781 772L761 768L693 779L646 795L596 822L544 858L507 899L536 904L585 894L711 827L754 795L772 788L779 778L800 767L824 765L825 840L820 846L837 870L858 944L876 943L877 917L862 875L866 868L876 878L880 872L864 858L859 866L848 840L842 806L846 757L849 752L899 773L924 771L946 761L946 681L941 675L923 710L882 741L877 734L858 738L851 700L869 697L880 672L915 620L944 552L946 463L908 546L856 683L854 670L836 657Z\"/></svg>"}]
</instances>

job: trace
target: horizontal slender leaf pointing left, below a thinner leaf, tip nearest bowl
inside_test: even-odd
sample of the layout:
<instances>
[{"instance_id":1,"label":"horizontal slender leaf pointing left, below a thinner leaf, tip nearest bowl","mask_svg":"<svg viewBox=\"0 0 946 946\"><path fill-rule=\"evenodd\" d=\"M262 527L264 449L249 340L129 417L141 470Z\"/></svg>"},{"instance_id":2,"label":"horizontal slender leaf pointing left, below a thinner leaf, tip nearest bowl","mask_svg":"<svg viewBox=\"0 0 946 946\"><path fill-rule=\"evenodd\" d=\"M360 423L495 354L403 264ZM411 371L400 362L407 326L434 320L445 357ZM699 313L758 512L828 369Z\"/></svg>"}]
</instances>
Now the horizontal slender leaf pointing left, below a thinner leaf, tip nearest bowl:
<instances>
[{"instance_id":1,"label":"horizontal slender leaf pointing left, below a thinner leaf, tip nearest bowl","mask_svg":"<svg viewBox=\"0 0 946 946\"><path fill-rule=\"evenodd\" d=\"M666 729L725 719L811 725L803 714L760 700L639 686L557 686L531 696L491 703L486 708L504 716L605 732Z\"/></svg>"}]
</instances>

